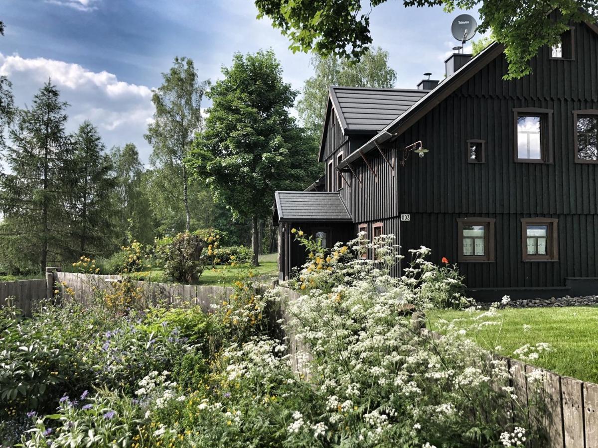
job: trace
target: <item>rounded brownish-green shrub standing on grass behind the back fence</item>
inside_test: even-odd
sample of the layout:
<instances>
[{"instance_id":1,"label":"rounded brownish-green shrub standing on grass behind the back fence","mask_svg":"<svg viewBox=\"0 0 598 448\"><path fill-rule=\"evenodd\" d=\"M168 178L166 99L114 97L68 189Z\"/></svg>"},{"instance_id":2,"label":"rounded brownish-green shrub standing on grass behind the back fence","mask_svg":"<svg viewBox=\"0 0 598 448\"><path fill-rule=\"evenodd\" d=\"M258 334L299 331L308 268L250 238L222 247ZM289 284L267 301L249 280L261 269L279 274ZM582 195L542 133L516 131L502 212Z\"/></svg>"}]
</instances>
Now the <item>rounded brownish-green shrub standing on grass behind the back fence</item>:
<instances>
[{"instance_id":1,"label":"rounded brownish-green shrub standing on grass behind the back fence","mask_svg":"<svg viewBox=\"0 0 598 448\"><path fill-rule=\"evenodd\" d=\"M203 235L185 232L165 237L157 242L157 256L164 263L166 274L175 281L197 283L206 266L215 262L219 239L216 232Z\"/></svg>"}]
</instances>

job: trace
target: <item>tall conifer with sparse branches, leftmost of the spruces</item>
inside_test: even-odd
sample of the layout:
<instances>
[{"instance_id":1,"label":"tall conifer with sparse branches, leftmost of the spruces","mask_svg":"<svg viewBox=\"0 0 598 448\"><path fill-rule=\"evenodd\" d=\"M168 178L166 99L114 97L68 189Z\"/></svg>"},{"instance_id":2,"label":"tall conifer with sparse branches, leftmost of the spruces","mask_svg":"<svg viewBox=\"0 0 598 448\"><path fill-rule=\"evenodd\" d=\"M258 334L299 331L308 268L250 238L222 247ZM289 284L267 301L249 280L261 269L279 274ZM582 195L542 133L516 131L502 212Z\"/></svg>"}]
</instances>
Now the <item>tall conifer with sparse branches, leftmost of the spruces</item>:
<instances>
[{"instance_id":1,"label":"tall conifer with sparse branches, leftmost of the spruces","mask_svg":"<svg viewBox=\"0 0 598 448\"><path fill-rule=\"evenodd\" d=\"M48 256L68 251L70 220L65 196L72 143L65 132L68 103L48 81L33 97L31 109L19 111L10 130L13 145L0 178L0 203L7 219L0 235L4 250L18 246L23 257L45 272Z\"/></svg>"}]
</instances>

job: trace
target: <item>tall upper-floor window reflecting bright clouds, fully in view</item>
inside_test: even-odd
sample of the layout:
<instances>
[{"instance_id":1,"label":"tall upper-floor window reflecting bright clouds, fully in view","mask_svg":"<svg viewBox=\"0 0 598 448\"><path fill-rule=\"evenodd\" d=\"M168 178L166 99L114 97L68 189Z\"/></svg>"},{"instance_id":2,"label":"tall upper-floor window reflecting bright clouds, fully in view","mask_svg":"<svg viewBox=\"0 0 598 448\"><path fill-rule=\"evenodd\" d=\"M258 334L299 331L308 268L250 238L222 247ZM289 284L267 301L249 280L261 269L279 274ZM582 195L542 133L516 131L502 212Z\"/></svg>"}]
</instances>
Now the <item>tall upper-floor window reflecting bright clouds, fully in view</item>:
<instances>
[{"instance_id":1,"label":"tall upper-floor window reflecting bright clouds, fully in view","mask_svg":"<svg viewBox=\"0 0 598 448\"><path fill-rule=\"evenodd\" d=\"M553 111L517 108L514 112L515 162L551 163Z\"/></svg>"}]
</instances>

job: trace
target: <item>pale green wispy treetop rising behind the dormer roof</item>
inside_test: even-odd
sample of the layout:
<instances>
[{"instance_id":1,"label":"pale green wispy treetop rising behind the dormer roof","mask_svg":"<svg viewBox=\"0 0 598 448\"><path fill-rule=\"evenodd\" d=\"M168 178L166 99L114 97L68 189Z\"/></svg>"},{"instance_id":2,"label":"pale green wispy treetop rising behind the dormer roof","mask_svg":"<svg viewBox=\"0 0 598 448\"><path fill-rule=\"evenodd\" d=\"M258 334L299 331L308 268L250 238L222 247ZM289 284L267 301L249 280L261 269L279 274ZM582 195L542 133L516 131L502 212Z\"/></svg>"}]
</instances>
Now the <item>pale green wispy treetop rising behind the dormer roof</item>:
<instances>
[{"instance_id":1,"label":"pale green wispy treetop rising behind the dormer roof","mask_svg":"<svg viewBox=\"0 0 598 448\"><path fill-rule=\"evenodd\" d=\"M297 111L309 133L318 138L324 125L329 86L392 88L396 82L396 72L388 66L388 51L380 47L367 51L357 63L335 55L316 54L310 65L315 75L305 81Z\"/></svg>"}]
</instances>

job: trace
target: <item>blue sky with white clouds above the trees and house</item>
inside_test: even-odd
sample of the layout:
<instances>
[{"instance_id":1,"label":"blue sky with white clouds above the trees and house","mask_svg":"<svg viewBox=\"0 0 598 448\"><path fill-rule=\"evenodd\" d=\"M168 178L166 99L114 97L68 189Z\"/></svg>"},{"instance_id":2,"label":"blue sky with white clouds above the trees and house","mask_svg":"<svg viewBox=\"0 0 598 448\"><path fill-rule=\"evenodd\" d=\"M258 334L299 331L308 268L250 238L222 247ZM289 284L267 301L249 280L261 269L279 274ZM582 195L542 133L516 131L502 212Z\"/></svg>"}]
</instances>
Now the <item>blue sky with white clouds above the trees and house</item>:
<instances>
[{"instance_id":1,"label":"blue sky with white clouds above the trees and house","mask_svg":"<svg viewBox=\"0 0 598 448\"><path fill-rule=\"evenodd\" d=\"M374 8L374 45L389 51L396 87L414 88L428 71L441 79L457 14L397 0ZM51 76L71 104L69 130L90 119L108 148L133 142L147 162L151 88L175 56L191 57L200 77L214 80L234 52L272 48L294 88L312 76L309 54L293 54L256 15L252 0L0 0L0 75L11 79L21 106Z\"/></svg>"}]
</instances>

